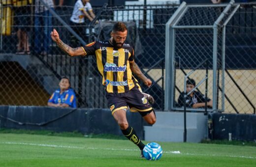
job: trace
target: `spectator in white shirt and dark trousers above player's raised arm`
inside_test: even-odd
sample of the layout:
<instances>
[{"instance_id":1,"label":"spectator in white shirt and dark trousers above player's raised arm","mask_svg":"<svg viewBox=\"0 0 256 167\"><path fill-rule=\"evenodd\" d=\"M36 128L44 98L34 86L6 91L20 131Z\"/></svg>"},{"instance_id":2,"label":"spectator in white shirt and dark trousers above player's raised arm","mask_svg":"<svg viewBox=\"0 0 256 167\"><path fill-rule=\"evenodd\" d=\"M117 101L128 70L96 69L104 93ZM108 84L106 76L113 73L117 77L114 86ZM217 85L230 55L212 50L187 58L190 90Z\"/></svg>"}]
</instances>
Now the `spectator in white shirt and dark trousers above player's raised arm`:
<instances>
[{"instance_id":1,"label":"spectator in white shirt and dark trousers above player's raised arm","mask_svg":"<svg viewBox=\"0 0 256 167\"><path fill-rule=\"evenodd\" d=\"M86 32L86 20L85 17L92 22L95 18L93 8L90 0L77 0L70 18L70 26L73 30L83 39L85 39ZM72 37L74 38L74 37ZM72 41L77 42L76 39L71 39ZM77 44L76 44L77 45Z\"/></svg>"}]
</instances>

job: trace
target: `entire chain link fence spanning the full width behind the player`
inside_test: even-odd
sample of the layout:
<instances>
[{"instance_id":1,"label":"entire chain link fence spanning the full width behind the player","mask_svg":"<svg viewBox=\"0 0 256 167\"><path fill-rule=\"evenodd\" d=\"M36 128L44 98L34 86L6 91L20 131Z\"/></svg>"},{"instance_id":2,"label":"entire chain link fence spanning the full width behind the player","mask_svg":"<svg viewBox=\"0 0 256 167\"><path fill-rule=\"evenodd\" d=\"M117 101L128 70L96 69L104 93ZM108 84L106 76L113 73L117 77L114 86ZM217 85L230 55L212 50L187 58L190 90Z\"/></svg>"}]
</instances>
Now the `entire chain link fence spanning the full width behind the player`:
<instances>
[{"instance_id":1,"label":"entire chain link fence spanning the full width behind the player","mask_svg":"<svg viewBox=\"0 0 256 167\"><path fill-rule=\"evenodd\" d=\"M26 4L25 4L26 1ZM24 2L24 3L23 3ZM78 107L107 108L101 76L94 56L69 57L52 42L50 31L56 28L64 43L79 47L94 40L107 40L116 21L128 25L128 42L134 47L136 62L153 81L143 91L151 94L157 110L164 108L165 24L177 10L173 5L126 5L93 8L96 19L80 25L70 23L74 6L56 6L48 10L44 3L30 0L0 0L0 105L46 106L59 87L62 76L70 79ZM37 5L37 6L36 6ZM41 6L41 12L35 8ZM226 5L203 8L194 6L178 26L213 25ZM218 43L218 109L225 112L253 113L256 105L256 5L241 4L226 25L225 48ZM232 6L230 11L235 7ZM229 13L230 15L231 13ZM224 19L225 20L225 19ZM99 22L96 24L96 22ZM45 23L45 24L44 24ZM223 25L223 23L221 24ZM74 31L74 32L72 32ZM222 28L218 41L223 41ZM82 37L79 39L79 37ZM209 28L176 31L175 102L184 91L184 75L213 55L213 30ZM39 42L38 42L39 41ZM222 52L225 52L224 87ZM212 97L212 64L209 64L208 97ZM190 78L198 83L205 76L204 64ZM198 87L205 93L205 84Z\"/></svg>"}]
</instances>

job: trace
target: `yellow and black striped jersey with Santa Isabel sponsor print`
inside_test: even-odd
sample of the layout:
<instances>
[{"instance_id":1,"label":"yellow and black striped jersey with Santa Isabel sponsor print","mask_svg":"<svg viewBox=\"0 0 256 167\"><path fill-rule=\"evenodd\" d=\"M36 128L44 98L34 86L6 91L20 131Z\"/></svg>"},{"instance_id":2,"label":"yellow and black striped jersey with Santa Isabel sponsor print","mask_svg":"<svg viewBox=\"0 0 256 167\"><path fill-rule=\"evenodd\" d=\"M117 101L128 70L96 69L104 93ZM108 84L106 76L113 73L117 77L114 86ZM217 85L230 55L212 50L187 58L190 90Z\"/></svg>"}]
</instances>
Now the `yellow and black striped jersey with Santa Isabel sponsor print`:
<instances>
[{"instance_id":1,"label":"yellow and black striped jersey with Santa Isabel sponsor print","mask_svg":"<svg viewBox=\"0 0 256 167\"><path fill-rule=\"evenodd\" d=\"M82 47L86 55L95 55L102 84L108 93L124 93L135 86L129 62L134 51L129 44L116 49L110 41L95 41Z\"/></svg>"}]
</instances>

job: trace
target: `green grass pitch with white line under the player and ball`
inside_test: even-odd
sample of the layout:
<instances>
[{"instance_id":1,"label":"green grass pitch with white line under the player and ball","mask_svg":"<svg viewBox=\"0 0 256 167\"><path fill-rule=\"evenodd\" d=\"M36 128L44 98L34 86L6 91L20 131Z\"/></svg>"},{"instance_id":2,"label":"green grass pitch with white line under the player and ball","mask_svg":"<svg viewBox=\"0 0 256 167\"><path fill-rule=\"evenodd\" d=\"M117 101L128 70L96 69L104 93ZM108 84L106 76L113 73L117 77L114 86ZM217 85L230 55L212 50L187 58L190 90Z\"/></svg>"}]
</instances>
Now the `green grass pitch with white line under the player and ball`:
<instances>
[{"instance_id":1,"label":"green grass pitch with white line under the player and ball","mask_svg":"<svg viewBox=\"0 0 256 167\"><path fill-rule=\"evenodd\" d=\"M253 146L158 143L164 151L162 158L147 161L128 140L0 133L0 167L256 166Z\"/></svg>"}]
</instances>

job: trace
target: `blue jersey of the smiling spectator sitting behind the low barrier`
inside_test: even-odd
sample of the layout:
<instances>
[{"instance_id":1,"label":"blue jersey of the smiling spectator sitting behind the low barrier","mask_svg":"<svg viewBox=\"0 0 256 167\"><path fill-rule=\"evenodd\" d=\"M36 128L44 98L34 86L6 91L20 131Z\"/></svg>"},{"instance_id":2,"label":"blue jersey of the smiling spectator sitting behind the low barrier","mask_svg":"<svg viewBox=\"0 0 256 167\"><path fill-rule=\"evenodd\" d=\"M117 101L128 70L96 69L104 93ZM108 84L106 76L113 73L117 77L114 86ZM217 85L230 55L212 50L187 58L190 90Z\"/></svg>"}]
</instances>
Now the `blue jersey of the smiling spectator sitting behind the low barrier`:
<instances>
[{"instance_id":1,"label":"blue jersey of the smiling spectator sitting behind the low barrier","mask_svg":"<svg viewBox=\"0 0 256 167\"><path fill-rule=\"evenodd\" d=\"M60 94L60 89L57 89L52 94L51 98L48 100L48 102L58 104L67 104L71 108L76 108L76 97L75 92L73 89L69 88L68 90L64 91L62 94Z\"/></svg>"}]
</instances>

